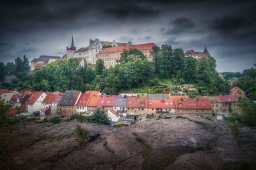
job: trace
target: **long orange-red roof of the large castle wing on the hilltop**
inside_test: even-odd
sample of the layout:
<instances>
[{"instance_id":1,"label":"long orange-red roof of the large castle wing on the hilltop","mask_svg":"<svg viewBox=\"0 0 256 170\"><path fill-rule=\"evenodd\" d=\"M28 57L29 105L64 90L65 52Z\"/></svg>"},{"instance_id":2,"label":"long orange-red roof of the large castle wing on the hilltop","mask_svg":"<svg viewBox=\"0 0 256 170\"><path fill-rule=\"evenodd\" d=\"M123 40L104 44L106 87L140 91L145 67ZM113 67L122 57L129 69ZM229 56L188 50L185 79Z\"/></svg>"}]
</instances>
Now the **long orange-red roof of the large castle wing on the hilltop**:
<instances>
[{"instance_id":1,"label":"long orange-red roof of the large castle wing on the hilltop","mask_svg":"<svg viewBox=\"0 0 256 170\"><path fill-rule=\"evenodd\" d=\"M130 50L136 48L138 50L152 50L152 47L156 46L154 43L140 44L140 45L127 45L127 46L114 46L110 48L105 48L99 53L115 53L122 52L123 50Z\"/></svg>"}]
</instances>

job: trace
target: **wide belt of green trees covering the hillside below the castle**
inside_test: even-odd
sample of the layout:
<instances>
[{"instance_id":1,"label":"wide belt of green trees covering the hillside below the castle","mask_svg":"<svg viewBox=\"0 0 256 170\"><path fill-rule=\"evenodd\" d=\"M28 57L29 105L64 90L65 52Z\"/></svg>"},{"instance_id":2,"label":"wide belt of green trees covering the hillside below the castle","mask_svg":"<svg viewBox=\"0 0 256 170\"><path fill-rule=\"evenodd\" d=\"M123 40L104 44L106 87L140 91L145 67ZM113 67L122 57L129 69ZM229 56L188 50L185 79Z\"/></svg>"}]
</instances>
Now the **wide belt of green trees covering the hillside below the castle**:
<instances>
[{"instance_id":1,"label":"wide belt of green trees covering the hillside below the castle","mask_svg":"<svg viewBox=\"0 0 256 170\"><path fill-rule=\"evenodd\" d=\"M227 92L228 85L216 72L212 57L200 60L184 57L182 49L173 49L170 45L155 46L152 55L154 62L149 62L140 50L124 50L120 64L108 69L104 67L103 60L98 60L95 67L87 64L81 67L76 59L57 60L29 74L25 72L27 74L19 76L21 80L5 82L1 86L19 91L100 90L106 94L130 89L149 93L170 90L170 85L159 82L161 78L172 81L173 85L192 83L202 95ZM0 69L8 74L24 73L28 71L28 60L18 57L15 64L0 64Z\"/></svg>"}]
</instances>

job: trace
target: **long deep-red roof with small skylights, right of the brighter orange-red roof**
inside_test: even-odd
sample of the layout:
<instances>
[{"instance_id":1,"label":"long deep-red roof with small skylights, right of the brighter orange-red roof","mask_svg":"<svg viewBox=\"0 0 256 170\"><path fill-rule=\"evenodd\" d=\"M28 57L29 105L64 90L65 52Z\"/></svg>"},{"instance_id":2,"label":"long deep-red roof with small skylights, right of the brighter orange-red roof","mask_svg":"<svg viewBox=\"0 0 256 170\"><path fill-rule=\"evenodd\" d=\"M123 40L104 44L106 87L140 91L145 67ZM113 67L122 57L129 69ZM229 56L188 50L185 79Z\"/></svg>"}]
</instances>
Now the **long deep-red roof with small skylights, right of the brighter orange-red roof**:
<instances>
[{"instance_id":1,"label":"long deep-red roof with small skylights, right of the brighter orange-red roof","mask_svg":"<svg viewBox=\"0 0 256 170\"><path fill-rule=\"evenodd\" d=\"M212 105L205 98L176 99L177 109L182 110L211 110Z\"/></svg>"}]
</instances>

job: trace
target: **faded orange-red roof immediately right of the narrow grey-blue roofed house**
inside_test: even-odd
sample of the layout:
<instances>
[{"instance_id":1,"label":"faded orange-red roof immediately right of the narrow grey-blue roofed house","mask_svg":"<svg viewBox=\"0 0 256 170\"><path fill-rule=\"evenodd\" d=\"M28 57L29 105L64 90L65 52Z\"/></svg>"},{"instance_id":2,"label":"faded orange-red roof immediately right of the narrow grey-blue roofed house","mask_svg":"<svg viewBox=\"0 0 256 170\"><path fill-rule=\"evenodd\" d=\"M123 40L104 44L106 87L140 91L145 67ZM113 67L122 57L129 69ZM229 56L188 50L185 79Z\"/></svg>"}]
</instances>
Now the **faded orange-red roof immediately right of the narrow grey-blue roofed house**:
<instances>
[{"instance_id":1,"label":"faded orange-red roof immediately right of the narrow grey-blue roofed house","mask_svg":"<svg viewBox=\"0 0 256 170\"><path fill-rule=\"evenodd\" d=\"M147 96L128 96L127 108L147 108Z\"/></svg>"}]
</instances>

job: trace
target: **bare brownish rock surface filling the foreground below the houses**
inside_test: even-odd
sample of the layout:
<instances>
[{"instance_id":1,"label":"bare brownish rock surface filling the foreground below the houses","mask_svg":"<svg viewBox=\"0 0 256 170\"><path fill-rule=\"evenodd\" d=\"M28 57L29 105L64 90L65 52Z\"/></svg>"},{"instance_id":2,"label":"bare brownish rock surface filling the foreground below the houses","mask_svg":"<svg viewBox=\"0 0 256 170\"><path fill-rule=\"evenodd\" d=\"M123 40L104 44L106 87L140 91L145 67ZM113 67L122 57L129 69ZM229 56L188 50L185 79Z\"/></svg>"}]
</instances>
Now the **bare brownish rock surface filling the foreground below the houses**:
<instances>
[{"instance_id":1,"label":"bare brownish rock surface filling the foreground below the houses","mask_svg":"<svg viewBox=\"0 0 256 170\"><path fill-rule=\"evenodd\" d=\"M8 127L17 134L9 169L222 169L256 158L255 130L243 127L235 135L225 122L207 117L153 118L121 128L81 123L90 133L83 145L74 136L77 124Z\"/></svg>"}]
</instances>

